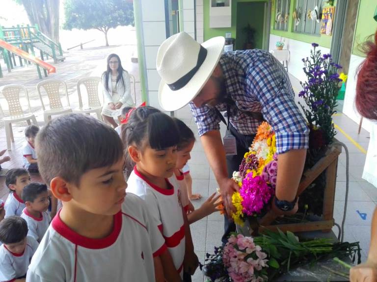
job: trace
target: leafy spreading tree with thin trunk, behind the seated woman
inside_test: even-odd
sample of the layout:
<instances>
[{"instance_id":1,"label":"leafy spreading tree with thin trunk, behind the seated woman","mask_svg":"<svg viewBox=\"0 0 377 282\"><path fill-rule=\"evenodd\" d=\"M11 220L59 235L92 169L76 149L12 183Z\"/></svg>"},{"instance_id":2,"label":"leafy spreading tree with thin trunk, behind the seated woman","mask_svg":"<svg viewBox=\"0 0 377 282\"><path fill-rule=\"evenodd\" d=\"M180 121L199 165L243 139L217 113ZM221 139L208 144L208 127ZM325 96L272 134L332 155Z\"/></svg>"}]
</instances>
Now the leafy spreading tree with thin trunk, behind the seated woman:
<instances>
[{"instance_id":1,"label":"leafy spreading tree with thin trunk, behind the seated woman","mask_svg":"<svg viewBox=\"0 0 377 282\"><path fill-rule=\"evenodd\" d=\"M66 0L64 14L64 29L98 29L105 34L106 46L110 28L135 25L132 0Z\"/></svg>"}]
</instances>

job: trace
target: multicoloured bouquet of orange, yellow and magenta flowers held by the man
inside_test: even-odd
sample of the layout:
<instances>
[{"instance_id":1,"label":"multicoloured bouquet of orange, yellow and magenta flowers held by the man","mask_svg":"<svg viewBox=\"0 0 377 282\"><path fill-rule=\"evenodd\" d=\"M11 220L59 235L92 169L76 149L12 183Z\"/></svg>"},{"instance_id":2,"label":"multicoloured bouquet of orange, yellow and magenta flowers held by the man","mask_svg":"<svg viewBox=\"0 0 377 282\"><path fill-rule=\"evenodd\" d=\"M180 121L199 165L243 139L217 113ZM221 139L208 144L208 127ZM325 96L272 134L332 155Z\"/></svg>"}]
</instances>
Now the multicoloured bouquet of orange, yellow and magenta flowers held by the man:
<instances>
[{"instance_id":1,"label":"multicoloured bouquet of orange, yellow and magenta flowers held by the man","mask_svg":"<svg viewBox=\"0 0 377 282\"><path fill-rule=\"evenodd\" d=\"M258 216L267 211L275 194L277 154L275 133L266 121L257 130L249 152L245 153L240 170L233 173L233 180L240 192L232 196L236 212L232 218L243 226L247 216Z\"/></svg>"}]
</instances>

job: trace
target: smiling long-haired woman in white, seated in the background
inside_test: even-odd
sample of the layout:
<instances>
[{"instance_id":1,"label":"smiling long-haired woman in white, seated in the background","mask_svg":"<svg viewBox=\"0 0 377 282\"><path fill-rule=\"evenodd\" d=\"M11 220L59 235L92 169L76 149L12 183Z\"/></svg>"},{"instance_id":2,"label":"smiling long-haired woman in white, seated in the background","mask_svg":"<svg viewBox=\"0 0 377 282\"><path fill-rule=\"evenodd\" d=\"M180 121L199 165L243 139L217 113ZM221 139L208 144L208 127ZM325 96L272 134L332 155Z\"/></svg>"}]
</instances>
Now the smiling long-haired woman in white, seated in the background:
<instances>
[{"instance_id":1,"label":"smiling long-haired woman in white, seated in the background","mask_svg":"<svg viewBox=\"0 0 377 282\"><path fill-rule=\"evenodd\" d=\"M114 128L118 126L114 117L121 116L122 108L134 106L130 91L130 75L122 68L116 54L108 55L107 71L102 74L104 86L104 106L102 115Z\"/></svg>"}]
</instances>

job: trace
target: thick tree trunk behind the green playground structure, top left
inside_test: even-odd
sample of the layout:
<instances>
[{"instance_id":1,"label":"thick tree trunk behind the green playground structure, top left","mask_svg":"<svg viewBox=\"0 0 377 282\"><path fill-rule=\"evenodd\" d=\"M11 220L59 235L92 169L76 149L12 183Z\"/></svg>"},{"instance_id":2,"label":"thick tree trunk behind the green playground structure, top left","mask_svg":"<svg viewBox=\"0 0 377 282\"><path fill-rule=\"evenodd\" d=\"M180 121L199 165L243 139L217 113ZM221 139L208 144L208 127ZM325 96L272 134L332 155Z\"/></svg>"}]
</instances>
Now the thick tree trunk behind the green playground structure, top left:
<instances>
[{"instance_id":1,"label":"thick tree trunk behind the green playground structure, top left","mask_svg":"<svg viewBox=\"0 0 377 282\"><path fill-rule=\"evenodd\" d=\"M39 30L59 42L60 0L15 0L24 5L30 24L38 24Z\"/></svg>"}]
</instances>

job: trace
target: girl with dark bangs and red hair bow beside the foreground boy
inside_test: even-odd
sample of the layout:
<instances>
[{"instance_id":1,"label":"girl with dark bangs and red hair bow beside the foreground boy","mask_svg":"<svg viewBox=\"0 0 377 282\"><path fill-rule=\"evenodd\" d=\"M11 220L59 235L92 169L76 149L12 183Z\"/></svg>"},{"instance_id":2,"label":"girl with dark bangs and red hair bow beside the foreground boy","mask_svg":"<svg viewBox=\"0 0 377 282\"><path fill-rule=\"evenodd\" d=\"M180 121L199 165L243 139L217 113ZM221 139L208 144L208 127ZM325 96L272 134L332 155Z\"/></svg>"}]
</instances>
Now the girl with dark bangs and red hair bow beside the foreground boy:
<instances>
[{"instance_id":1,"label":"girl with dark bangs and red hair bow beside the foreground boy","mask_svg":"<svg viewBox=\"0 0 377 282\"><path fill-rule=\"evenodd\" d=\"M173 119L159 110L142 107L135 109L124 124L122 140L127 158L136 164L128 179L127 191L146 201L165 238L174 271L181 278L185 271L189 278L184 281L190 281L198 259L193 252L177 184L168 180L176 167L178 129Z\"/></svg>"}]
</instances>

